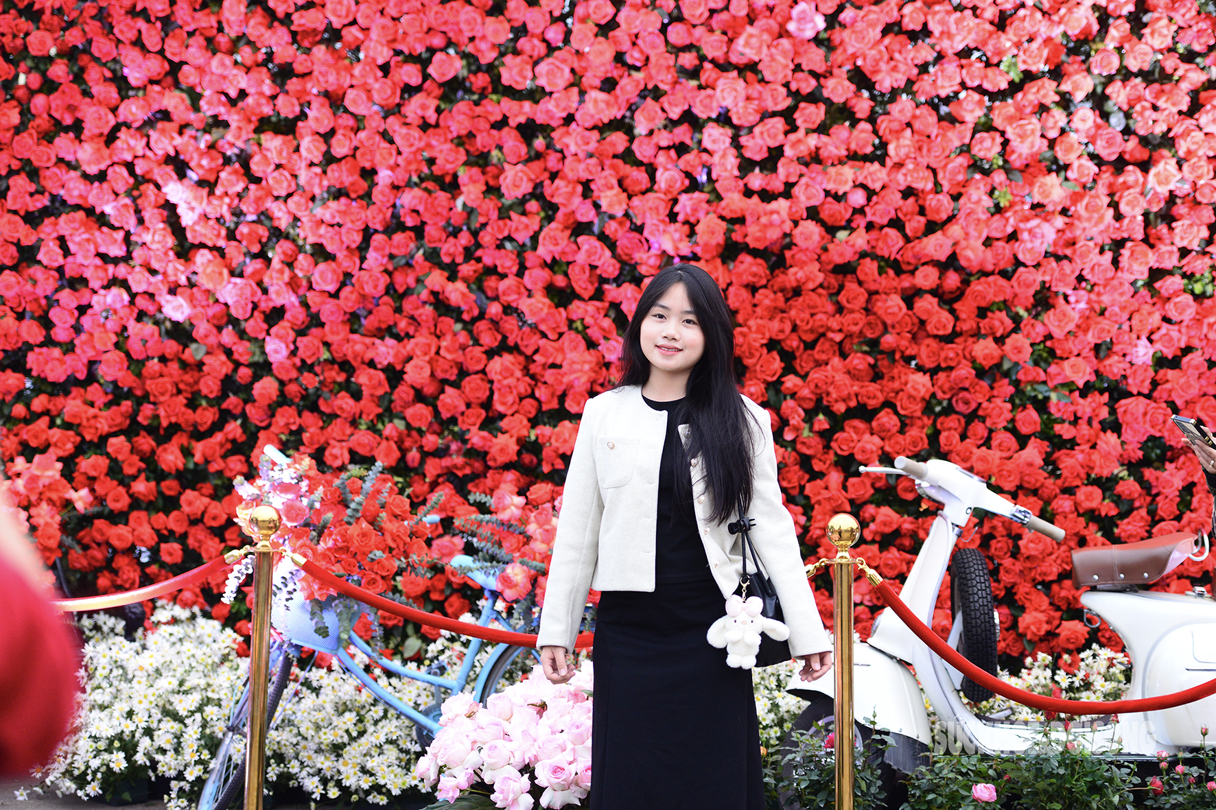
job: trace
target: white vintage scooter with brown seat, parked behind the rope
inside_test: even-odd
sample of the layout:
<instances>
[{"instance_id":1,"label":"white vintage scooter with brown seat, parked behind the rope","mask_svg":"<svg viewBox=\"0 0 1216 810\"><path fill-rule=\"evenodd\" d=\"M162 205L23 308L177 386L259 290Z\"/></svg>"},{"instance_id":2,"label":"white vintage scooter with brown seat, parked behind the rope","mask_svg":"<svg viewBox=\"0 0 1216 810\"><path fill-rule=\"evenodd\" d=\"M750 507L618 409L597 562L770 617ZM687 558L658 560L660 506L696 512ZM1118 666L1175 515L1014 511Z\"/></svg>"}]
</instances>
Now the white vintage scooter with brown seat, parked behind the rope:
<instances>
[{"instance_id":1,"label":"white vintage scooter with brown seat, parked behind the rope","mask_svg":"<svg viewBox=\"0 0 1216 810\"><path fill-rule=\"evenodd\" d=\"M1064 531L992 493L984 479L948 461L934 459L922 463L900 456L895 468L861 469L908 476L921 495L942 505L900 596L921 620L931 625L938 592L950 569L955 594L950 643L996 674L1000 625L992 609L987 566L975 549L961 549L952 561L955 544L973 510L1007 517L1057 541L1064 538ZM1081 603L1120 635L1132 659L1126 698L1169 694L1216 677L1216 600L1201 587L1190 594L1138 590L1188 557L1204 559L1207 552L1209 541L1203 534L1175 534L1073 552L1074 580L1079 587L1090 587L1081 595ZM959 696L959 688L974 701L991 693L934 656L891 611L884 609L878 615L867 642L855 640L854 662L854 716L858 724L869 724L873 718L874 727L890 733L894 744L888 749L886 761L901 771L914 770L935 743L930 738L922 688L942 726L958 736L952 753L962 748L1015 754L1026 750L1041 733L1032 724L978 716ZM795 675L787 690L811 701L795 729L810 729L832 716L833 677L806 682ZM1172 709L1099 718L1086 726L1092 731L1080 739L1094 750L1119 750L1120 756L1133 758L1154 756L1162 750L1177 753L1200 746L1204 726L1216 729L1216 696ZM868 735L865 727L861 732ZM939 752L941 742L936 741Z\"/></svg>"}]
</instances>

